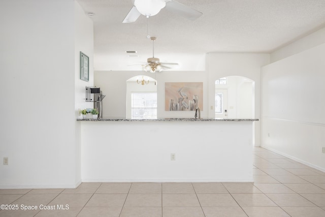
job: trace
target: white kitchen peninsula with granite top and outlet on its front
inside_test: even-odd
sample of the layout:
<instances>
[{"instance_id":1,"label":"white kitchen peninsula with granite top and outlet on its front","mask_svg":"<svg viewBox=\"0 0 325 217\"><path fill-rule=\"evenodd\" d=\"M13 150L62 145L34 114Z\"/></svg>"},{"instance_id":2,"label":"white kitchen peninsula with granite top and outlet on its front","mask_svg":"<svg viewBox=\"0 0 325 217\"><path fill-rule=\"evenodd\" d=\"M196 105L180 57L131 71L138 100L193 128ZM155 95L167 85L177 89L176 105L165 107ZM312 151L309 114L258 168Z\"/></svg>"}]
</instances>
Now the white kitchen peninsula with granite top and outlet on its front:
<instances>
[{"instance_id":1,"label":"white kitchen peninsula with granite top and outlet on its front","mask_svg":"<svg viewBox=\"0 0 325 217\"><path fill-rule=\"evenodd\" d=\"M83 182L251 182L258 119L77 119Z\"/></svg>"}]
</instances>

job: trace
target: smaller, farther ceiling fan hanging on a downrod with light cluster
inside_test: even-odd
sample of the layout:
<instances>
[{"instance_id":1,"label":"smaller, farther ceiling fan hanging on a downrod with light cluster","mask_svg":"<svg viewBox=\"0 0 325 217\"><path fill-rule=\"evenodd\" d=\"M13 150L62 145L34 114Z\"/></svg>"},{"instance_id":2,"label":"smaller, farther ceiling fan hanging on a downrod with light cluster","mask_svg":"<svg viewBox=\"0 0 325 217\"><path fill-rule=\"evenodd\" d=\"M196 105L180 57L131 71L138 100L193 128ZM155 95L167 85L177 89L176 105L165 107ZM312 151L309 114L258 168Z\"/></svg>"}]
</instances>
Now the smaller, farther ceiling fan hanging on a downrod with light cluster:
<instances>
[{"instance_id":1,"label":"smaller, farther ceiling fan hanging on a downrod with light cluster","mask_svg":"<svg viewBox=\"0 0 325 217\"><path fill-rule=\"evenodd\" d=\"M156 40L156 37L150 37L152 41L152 57L147 59L147 64L142 65L142 69L146 72L161 72L164 69L171 69L171 67L168 67L166 65L178 65L177 63L160 63L159 58L154 57L154 41Z\"/></svg>"}]
</instances>

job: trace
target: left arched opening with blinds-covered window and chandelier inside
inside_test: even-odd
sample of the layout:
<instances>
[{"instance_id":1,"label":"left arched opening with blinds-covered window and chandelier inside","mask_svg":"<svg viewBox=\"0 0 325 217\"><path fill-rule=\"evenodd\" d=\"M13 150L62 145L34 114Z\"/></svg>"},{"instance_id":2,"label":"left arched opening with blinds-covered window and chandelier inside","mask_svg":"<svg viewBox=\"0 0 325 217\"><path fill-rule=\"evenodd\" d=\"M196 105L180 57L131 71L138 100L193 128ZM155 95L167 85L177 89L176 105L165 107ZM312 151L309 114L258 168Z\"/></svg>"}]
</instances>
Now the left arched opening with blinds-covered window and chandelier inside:
<instances>
[{"instance_id":1,"label":"left arched opening with blinds-covered window and chandelier inside","mask_svg":"<svg viewBox=\"0 0 325 217\"><path fill-rule=\"evenodd\" d=\"M138 75L126 80L126 118L157 118L157 81Z\"/></svg>"}]
</instances>

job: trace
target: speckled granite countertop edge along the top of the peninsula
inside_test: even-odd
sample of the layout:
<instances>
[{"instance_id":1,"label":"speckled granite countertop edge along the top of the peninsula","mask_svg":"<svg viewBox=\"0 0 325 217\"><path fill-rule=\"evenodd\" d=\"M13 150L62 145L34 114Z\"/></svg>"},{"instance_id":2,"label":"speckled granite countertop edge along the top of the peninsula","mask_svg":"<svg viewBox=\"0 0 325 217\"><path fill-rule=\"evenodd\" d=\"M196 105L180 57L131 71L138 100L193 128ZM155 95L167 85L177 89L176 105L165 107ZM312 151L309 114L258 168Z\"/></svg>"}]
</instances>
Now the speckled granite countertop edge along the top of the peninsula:
<instances>
[{"instance_id":1,"label":"speckled granite countertop edge along the top of the peninsula","mask_svg":"<svg viewBox=\"0 0 325 217\"><path fill-rule=\"evenodd\" d=\"M77 121L258 121L258 118L158 118L158 119L125 119L97 118L77 119Z\"/></svg>"}]
</instances>

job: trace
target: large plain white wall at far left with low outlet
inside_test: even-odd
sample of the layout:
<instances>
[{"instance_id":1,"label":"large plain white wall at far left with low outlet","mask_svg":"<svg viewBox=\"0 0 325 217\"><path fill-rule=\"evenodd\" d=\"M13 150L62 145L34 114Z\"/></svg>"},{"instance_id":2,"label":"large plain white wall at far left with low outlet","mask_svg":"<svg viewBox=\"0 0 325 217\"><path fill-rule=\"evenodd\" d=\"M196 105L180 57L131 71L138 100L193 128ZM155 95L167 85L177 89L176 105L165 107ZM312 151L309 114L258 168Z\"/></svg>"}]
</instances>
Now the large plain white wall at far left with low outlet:
<instances>
[{"instance_id":1,"label":"large plain white wall at far left with low outlet","mask_svg":"<svg viewBox=\"0 0 325 217\"><path fill-rule=\"evenodd\" d=\"M75 6L65 0L1 2L6 115L0 159L8 157L9 165L0 164L0 188L74 188L81 181Z\"/></svg>"}]
</instances>

